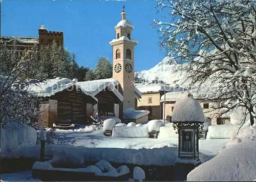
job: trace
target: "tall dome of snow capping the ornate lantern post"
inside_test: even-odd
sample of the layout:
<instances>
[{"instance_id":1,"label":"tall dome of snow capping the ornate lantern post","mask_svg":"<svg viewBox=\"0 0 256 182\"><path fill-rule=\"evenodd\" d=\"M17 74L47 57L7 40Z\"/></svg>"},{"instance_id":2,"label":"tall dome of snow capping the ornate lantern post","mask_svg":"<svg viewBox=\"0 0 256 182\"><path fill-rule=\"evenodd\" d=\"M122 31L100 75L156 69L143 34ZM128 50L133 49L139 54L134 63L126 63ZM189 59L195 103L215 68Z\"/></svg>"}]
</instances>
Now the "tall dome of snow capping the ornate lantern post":
<instances>
[{"instance_id":1,"label":"tall dome of snow capping the ornate lantern post","mask_svg":"<svg viewBox=\"0 0 256 182\"><path fill-rule=\"evenodd\" d=\"M204 122L204 112L200 103L188 91L178 97L172 115L173 122Z\"/></svg>"}]
</instances>

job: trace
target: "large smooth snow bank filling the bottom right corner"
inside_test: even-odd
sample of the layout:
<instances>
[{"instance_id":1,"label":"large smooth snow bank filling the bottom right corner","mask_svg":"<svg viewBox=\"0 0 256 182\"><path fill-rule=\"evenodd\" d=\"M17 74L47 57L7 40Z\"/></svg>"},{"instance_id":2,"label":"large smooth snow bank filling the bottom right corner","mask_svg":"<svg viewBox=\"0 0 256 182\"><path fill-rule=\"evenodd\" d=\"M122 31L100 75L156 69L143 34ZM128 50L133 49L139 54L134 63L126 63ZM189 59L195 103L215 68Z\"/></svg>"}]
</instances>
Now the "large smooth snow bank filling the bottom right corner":
<instances>
[{"instance_id":1,"label":"large smooth snow bank filling the bottom right corner","mask_svg":"<svg viewBox=\"0 0 256 182\"><path fill-rule=\"evenodd\" d=\"M244 131L238 135L240 140L192 170L187 181L253 181L256 178L255 127Z\"/></svg>"}]
</instances>

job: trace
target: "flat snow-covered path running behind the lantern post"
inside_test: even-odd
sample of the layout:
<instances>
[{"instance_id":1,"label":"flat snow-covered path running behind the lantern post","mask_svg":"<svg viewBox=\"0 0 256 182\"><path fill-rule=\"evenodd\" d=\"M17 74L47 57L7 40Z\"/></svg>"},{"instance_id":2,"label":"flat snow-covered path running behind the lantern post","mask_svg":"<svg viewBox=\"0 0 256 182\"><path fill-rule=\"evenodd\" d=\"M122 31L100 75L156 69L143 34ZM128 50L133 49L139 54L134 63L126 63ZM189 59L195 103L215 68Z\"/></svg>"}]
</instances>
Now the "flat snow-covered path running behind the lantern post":
<instances>
[{"instance_id":1,"label":"flat snow-covered path running behind the lantern post","mask_svg":"<svg viewBox=\"0 0 256 182\"><path fill-rule=\"evenodd\" d=\"M214 157L223 150L228 139L199 140L199 150L204 155ZM84 131L58 131L54 135L54 144L66 144L91 148L162 148L178 147L178 138L117 138L106 137L103 130L94 132Z\"/></svg>"}]
</instances>

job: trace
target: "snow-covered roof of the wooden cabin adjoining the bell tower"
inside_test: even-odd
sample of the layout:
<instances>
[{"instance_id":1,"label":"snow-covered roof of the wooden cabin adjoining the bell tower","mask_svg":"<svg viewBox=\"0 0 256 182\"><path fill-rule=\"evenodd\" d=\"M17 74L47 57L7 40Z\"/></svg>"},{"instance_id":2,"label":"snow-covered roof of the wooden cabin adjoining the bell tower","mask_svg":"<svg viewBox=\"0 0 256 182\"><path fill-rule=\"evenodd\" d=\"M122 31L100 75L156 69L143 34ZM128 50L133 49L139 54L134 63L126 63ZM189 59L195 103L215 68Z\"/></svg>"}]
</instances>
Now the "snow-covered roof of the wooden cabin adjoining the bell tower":
<instances>
[{"instance_id":1,"label":"snow-covered roof of the wooden cabin adjoining the bell tower","mask_svg":"<svg viewBox=\"0 0 256 182\"><path fill-rule=\"evenodd\" d=\"M81 88L91 93L92 96L96 96L106 87L109 87L112 92L118 97L120 101L123 101L123 96L115 88L119 82L113 78L101 79L101 80L92 80L92 81L80 81L76 82Z\"/></svg>"}]
</instances>

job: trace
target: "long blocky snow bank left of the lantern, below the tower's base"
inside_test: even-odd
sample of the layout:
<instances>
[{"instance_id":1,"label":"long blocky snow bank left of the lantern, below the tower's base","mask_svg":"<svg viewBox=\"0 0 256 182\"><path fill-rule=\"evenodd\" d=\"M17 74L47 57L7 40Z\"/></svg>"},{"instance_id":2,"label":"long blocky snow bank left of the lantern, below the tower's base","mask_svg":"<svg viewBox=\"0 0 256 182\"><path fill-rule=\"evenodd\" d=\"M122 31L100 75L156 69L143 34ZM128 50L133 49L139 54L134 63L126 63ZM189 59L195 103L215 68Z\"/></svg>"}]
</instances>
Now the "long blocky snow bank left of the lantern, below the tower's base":
<instances>
[{"instance_id":1,"label":"long blocky snow bank left of the lantern, below the tower's base","mask_svg":"<svg viewBox=\"0 0 256 182\"><path fill-rule=\"evenodd\" d=\"M116 127L113 128L112 137L149 138L148 127Z\"/></svg>"}]
</instances>

